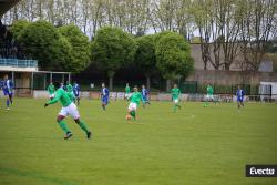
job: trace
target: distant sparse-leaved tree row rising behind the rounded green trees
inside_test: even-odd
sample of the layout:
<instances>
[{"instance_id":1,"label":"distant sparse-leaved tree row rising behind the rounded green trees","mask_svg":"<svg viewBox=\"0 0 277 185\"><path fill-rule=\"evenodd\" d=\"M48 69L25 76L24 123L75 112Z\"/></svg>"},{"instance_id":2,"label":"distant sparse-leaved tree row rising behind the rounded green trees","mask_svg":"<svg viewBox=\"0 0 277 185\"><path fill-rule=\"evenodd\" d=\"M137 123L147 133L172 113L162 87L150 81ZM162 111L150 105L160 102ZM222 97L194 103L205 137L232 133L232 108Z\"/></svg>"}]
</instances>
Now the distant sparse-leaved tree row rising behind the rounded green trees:
<instances>
[{"instance_id":1,"label":"distant sparse-leaved tree row rising behind the rounded green trees","mask_svg":"<svg viewBox=\"0 0 277 185\"><path fill-rule=\"evenodd\" d=\"M131 34L153 29L178 31L186 37L192 31L191 3L191 0L21 0L3 21L73 23L88 35L95 35L103 25L114 25Z\"/></svg>"}]
</instances>

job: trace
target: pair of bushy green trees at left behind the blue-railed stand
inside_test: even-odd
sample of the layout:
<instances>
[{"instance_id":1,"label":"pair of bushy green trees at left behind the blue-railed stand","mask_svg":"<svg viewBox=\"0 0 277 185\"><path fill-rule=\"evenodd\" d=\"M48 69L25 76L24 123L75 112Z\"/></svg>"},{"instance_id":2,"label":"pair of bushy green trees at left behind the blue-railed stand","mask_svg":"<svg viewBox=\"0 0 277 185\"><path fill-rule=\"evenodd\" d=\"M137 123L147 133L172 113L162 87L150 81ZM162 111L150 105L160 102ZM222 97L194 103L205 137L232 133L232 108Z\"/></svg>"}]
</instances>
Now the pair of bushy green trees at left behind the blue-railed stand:
<instances>
[{"instance_id":1,"label":"pair of bushy green trees at left behind the blue-railed stand","mask_svg":"<svg viewBox=\"0 0 277 185\"><path fill-rule=\"evenodd\" d=\"M73 24L55 28L45 21L17 21L11 27L18 47L42 70L80 72L91 61L89 38Z\"/></svg>"}]
</instances>

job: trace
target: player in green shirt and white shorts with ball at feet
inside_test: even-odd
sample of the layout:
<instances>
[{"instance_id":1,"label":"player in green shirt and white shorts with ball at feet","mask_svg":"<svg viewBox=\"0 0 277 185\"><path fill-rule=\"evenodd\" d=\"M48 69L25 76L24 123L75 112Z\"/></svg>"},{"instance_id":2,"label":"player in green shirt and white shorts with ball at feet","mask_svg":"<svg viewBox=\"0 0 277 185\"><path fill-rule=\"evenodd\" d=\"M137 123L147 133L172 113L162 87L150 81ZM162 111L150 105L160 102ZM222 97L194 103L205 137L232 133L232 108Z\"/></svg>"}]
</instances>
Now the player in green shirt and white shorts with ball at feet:
<instances>
[{"instance_id":1,"label":"player in green shirt and white shorts with ball at feet","mask_svg":"<svg viewBox=\"0 0 277 185\"><path fill-rule=\"evenodd\" d=\"M134 92L129 97L129 100L130 100L130 104L127 107L126 119L131 120L131 117L133 117L135 120L136 119L136 116L135 116L136 109L140 105L140 101L143 101L142 93L138 92L137 86L134 86Z\"/></svg>"}]
</instances>

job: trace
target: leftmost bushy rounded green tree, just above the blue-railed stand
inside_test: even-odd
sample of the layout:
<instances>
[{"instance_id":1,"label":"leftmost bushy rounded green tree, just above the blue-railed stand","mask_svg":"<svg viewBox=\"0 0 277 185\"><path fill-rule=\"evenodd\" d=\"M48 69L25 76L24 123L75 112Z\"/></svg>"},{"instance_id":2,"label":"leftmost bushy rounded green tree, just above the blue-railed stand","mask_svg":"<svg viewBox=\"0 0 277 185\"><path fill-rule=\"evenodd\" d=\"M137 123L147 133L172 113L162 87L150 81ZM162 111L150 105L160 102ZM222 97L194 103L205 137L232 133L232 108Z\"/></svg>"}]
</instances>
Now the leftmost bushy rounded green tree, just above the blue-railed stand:
<instances>
[{"instance_id":1,"label":"leftmost bushy rounded green tree, just above the blue-railed stand","mask_svg":"<svg viewBox=\"0 0 277 185\"><path fill-rule=\"evenodd\" d=\"M61 37L58 30L45 21L29 23L22 22L12 25L16 41L21 43L31 59L39 60L42 70L63 70L65 63L71 61L71 44ZM18 28L24 28L19 30Z\"/></svg>"}]
</instances>

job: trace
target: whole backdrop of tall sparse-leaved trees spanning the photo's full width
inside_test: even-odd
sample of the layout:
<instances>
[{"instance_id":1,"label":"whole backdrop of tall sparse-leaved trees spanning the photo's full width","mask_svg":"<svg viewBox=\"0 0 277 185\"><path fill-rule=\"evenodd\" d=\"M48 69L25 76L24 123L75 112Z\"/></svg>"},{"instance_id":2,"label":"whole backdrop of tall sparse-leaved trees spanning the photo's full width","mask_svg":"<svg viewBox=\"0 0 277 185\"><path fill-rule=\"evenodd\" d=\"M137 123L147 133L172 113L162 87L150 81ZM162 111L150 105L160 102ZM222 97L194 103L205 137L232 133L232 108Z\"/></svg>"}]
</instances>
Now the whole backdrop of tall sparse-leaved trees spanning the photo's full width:
<instances>
[{"instance_id":1,"label":"whole backdrop of tall sparse-leaved trees spanning the photo's full width","mask_svg":"<svg viewBox=\"0 0 277 185\"><path fill-rule=\"evenodd\" d=\"M21 0L2 21L18 19L73 23L92 38L105 25L134 35L175 31L201 43L204 69L242 62L243 70L258 70L277 37L277 0Z\"/></svg>"}]
</instances>

